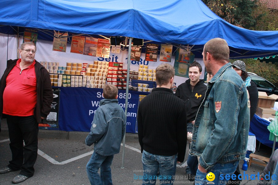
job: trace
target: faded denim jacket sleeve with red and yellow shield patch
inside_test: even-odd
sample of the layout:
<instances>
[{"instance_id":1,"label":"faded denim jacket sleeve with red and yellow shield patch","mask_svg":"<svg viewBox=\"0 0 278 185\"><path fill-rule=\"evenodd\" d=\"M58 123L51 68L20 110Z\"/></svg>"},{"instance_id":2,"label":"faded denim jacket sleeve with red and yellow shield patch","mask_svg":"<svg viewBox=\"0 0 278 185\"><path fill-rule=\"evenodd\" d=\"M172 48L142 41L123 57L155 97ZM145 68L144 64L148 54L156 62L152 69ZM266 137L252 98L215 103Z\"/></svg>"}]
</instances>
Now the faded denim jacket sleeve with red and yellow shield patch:
<instances>
[{"instance_id":1,"label":"faded denim jacket sleeve with red and yellow shield patch","mask_svg":"<svg viewBox=\"0 0 278 185\"><path fill-rule=\"evenodd\" d=\"M214 128L199 160L200 165L206 170L225 155L234 140L238 125L239 99L243 93L239 88L229 80L219 80L212 89L213 98L209 103L213 105L209 105L209 110L214 112L210 113L213 116L210 119L213 119ZM216 103L218 108L221 105L219 111L216 110Z\"/></svg>"}]
</instances>

